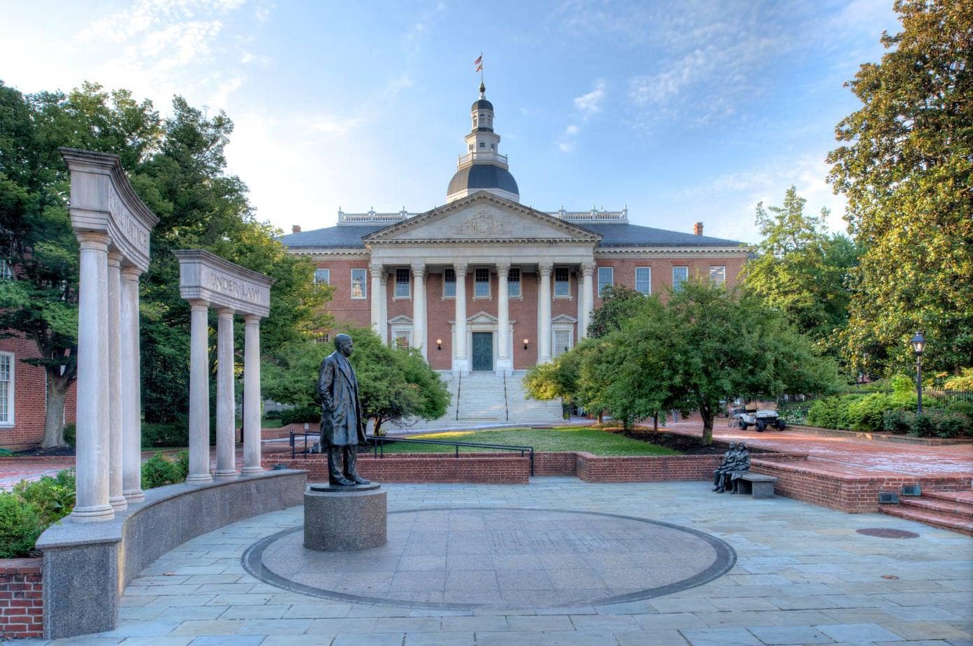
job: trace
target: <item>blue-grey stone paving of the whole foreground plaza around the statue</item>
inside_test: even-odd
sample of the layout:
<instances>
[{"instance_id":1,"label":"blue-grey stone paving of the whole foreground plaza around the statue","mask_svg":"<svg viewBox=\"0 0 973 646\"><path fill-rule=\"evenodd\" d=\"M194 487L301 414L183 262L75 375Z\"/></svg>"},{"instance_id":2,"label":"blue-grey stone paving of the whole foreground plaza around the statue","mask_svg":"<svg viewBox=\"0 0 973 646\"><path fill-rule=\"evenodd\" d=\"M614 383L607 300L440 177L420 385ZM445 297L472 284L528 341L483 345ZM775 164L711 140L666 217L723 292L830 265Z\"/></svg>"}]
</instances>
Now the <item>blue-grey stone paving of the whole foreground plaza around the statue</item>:
<instances>
[{"instance_id":1,"label":"blue-grey stone paving of the whole foreground plaza around the statue","mask_svg":"<svg viewBox=\"0 0 973 646\"><path fill-rule=\"evenodd\" d=\"M363 570L394 572L387 583L380 577L372 580L369 592L383 595L380 603L291 592L247 573L242 557L248 550L302 523L303 510L296 507L236 522L162 556L126 589L119 628L53 643L973 644L973 539L909 520L878 514L848 515L781 497L755 500L717 495L710 493L705 483L584 484L572 478L535 478L528 485L384 486L388 491L390 537L404 535L403 526L393 531L396 524L410 525L415 536L442 531L443 527L448 535L445 543L431 541L424 547L419 540L410 543L407 538L401 552L392 546L381 559L377 557L377 564L364 565ZM527 512L511 511L525 508L548 511L538 513L537 520L530 520ZM479 529L478 518L486 531L479 537L456 534L455 538L466 538L472 545L486 544L489 550L463 550L462 540L450 543L453 512L460 519L455 532ZM716 543L701 542L699 535L687 534L683 562L636 559L628 571L637 583L620 582L612 577L622 576L626 569L611 558L597 559L610 554L586 552L586 546L595 544L585 541L563 541L563 537L571 536L572 527L584 528L578 521L605 518L590 514L686 527L713 537ZM397 523L393 520L396 518L412 520ZM498 542L484 539L490 531L487 520L494 520L493 531L503 532L513 528L504 523L517 523L525 529L532 522L557 522L558 518L567 520L561 523L561 542L552 544L560 552L551 555L559 556L538 556L536 562L526 562L517 554L497 555L494 560L489 553ZM465 527L460 528L462 525ZM633 527L641 527L644 533ZM879 538L856 532L871 527L902 529L919 536ZM517 542L524 553L541 555L539 546L557 535L557 528L551 524L540 529L554 533L541 536L526 548L523 541ZM631 553L642 553L638 557L643 559L648 558L645 553L649 550L639 546L653 545L661 553L677 550L680 535L678 529L665 524L637 520L616 524L609 533L595 543L617 540ZM282 538L286 535L270 539L269 544ZM664 584L667 576L691 578L700 567L715 560L707 550L721 543L732 548L736 560L729 571L703 585L624 603L551 607L557 602L553 592L569 592L572 586L580 589L577 581L559 583L570 582L572 576L587 577L586 585L598 589L597 594L589 595L591 599L615 590L631 590L631 585L651 589ZM415 545L420 547L409 547ZM450 550L453 545L457 549ZM395 554L401 556L396 558ZM328 561L327 556L313 558L319 561L319 575L336 571L321 565ZM513 564L523 569L511 567ZM662 580L637 579L653 568ZM565 574L571 570L575 572ZM577 572L580 570L588 571ZM535 587L552 594L537 594L535 602L527 595L520 604L503 600L500 573L518 571L531 571L543 582ZM444 601L448 601L448 590L482 590L486 604L445 609L428 607L423 599L411 597L403 606L396 606L389 598L394 595L398 575L402 575L401 587L439 592ZM322 576L305 581L339 586L336 579ZM411 586L409 581L417 583ZM349 585L350 594L362 595L360 588L354 588L361 584ZM333 597L341 593L331 592ZM441 598L438 594L434 597Z\"/></svg>"}]
</instances>

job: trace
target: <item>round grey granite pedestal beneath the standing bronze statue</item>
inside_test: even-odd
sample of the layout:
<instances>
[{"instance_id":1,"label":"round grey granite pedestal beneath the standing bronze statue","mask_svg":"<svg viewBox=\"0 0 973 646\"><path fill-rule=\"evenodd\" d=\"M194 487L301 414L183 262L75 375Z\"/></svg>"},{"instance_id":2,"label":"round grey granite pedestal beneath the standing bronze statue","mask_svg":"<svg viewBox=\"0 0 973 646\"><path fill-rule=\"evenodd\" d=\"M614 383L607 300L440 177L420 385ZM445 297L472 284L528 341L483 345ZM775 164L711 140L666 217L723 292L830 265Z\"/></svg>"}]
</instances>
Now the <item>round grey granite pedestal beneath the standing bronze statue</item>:
<instances>
[{"instance_id":1,"label":"round grey granite pedestal beneath the standing bronze statue","mask_svg":"<svg viewBox=\"0 0 973 646\"><path fill-rule=\"evenodd\" d=\"M308 550L357 552L386 541L386 494L379 484L308 484L305 540Z\"/></svg>"}]
</instances>

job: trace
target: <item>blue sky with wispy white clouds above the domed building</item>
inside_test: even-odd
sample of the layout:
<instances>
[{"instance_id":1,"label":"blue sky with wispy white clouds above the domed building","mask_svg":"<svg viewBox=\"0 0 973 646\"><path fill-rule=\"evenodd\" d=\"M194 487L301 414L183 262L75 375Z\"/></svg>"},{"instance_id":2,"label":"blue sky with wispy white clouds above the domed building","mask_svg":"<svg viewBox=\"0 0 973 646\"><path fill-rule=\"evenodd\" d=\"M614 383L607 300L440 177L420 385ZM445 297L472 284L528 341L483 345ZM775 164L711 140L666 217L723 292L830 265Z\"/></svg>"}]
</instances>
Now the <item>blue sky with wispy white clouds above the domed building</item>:
<instances>
[{"instance_id":1,"label":"blue sky with wispy white clouds above the domed building","mask_svg":"<svg viewBox=\"0 0 973 646\"><path fill-rule=\"evenodd\" d=\"M442 204L484 52L500 152L542 210L754 242L758 200L825 182L843 84L877 61L891 0L269 2L0 0L0 79L84 80L235 123L231 171L286 231Z\"/></svg>"}]
</instances>

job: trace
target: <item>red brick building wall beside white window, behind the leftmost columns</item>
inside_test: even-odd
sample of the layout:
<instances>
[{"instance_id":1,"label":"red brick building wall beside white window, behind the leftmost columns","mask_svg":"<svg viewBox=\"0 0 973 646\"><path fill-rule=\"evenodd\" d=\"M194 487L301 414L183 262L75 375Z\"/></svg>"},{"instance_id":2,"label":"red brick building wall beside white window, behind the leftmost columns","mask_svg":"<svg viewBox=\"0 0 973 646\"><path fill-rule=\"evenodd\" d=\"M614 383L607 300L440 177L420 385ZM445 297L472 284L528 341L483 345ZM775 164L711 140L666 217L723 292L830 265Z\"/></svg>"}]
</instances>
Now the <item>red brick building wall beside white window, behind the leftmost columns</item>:
<instances>
[{"instance_id":1,"label":"red brick building wall beside white window, behind the leftmost columns","mask_svg":"<svg viewBox=\"0 0 973 646\"><path fill-rule=\"evenodd\" d=\"M46 376L44 369L30 366L21 359L40 356L34 341L25 339L0 340L0 351L14 353L14 425L0 426L0 449L30 449L44 437ZM64 401L64 417L74 423L77 401L71 386Z\"/></svg>"}]
</instances>

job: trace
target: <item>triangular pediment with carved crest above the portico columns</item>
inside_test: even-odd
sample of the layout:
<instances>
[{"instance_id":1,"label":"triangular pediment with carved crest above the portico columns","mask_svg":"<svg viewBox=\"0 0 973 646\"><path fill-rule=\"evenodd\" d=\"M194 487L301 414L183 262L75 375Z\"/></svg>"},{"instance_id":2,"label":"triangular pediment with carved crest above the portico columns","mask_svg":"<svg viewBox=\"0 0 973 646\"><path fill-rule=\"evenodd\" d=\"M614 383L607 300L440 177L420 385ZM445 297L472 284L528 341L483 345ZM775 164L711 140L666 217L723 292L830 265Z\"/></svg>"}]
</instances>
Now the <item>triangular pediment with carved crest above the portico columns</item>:
<instances>
[{"instance_id":1,"label":"triangular pediment with carved crest above the portico columns","mask_svg":"<svg viewBox=\"0 0 973 646\"><path fill-rule=\"evenodd\" d=\"M463 197L362 238L366 244L554 241L597 243L601 235L486 192Z\"/></svg>"}]
</instances>

